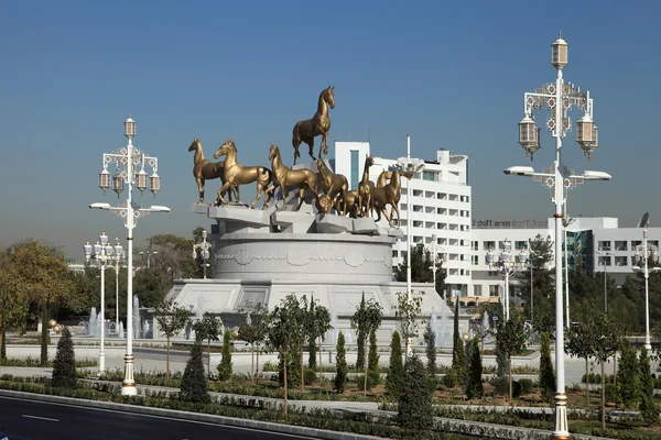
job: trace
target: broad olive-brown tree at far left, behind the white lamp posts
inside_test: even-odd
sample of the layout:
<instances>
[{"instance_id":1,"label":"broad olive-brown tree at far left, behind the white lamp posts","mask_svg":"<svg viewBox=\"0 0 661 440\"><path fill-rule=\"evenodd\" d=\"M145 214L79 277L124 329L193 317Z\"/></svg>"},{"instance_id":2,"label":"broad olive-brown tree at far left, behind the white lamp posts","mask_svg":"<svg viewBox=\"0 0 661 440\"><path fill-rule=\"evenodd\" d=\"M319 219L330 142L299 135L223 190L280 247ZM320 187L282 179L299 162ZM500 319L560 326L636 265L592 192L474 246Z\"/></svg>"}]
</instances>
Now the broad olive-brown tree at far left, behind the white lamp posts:
<instances>
[{"instance_id":1,"label":"broad olive-brown tree at far left, behind the white lamp posts","mask_svg":"<svg viewBox=\"0 0 661 440\"><path fill-rule=\"evenodd\" d=\"M13 246L19 288L36 305L42 322L41 365L48 361L48 321L53 309L72 300L73 283L62 251L36 240Z\"/></svg>"}]
</instances>

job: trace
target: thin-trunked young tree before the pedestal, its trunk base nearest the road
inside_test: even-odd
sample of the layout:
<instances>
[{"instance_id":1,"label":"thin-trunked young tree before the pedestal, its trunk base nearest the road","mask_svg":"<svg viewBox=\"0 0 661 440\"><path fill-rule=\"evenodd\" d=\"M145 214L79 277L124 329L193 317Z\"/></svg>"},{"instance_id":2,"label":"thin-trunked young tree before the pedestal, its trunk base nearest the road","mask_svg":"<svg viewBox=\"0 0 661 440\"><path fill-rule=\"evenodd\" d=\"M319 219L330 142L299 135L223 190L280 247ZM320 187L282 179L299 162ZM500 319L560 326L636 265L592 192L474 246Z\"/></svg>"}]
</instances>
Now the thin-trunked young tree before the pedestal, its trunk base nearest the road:
<instances>
[{"instance_id":1,"label":"thin-trunked young tree before the pedestal, its trunk base nearest the road","mask_svg":"<svg viewBox=\"0 0 661 440\"><path fill-rule=\"evenodd\" d=\"M278 351L283 364L284 414L288 406L288 364L305 341L305 310L295 295L288 295L275 306L269 326L269 343ZM301 377L303 381L303 377Z\"/></svg>"}]
</instances>

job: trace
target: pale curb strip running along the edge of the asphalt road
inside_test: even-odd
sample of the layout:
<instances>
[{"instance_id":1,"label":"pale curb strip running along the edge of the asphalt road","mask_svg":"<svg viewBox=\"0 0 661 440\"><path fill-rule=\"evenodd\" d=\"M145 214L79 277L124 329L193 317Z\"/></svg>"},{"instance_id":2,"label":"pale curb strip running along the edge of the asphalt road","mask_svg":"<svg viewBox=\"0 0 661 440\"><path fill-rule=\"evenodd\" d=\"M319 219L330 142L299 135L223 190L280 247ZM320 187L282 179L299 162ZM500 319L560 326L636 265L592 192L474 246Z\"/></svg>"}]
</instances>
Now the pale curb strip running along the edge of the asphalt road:
<instances>
[{"instance_id":1,"label":"pale curb strip running along the edge of the asphalt road","mask_svg":"<svg viewBox=\"0 0 661 440\"><path fill-rule=\"evenodd\" d=\"M294 425L272 424L268 421L239 419L234 417L214 416L208 414L176 411L174 409L151 408L147 406L134 406L128 404L115 404L110 402L86 400L73 397L50 396L44 394L32 394L0 389L0 396L23 398L28 400L67 404L86 408L112 409L122 413L141 414L147 416L170 417L180 420L204 421L218 426L230 426L238 428L251 428L275 433L296 435L315 439L329 440L383 440L382 437L362 436L350 432L330 431L327 429L305 428Z\"/></svg>"}]
</instances>

